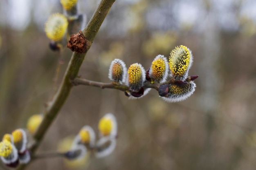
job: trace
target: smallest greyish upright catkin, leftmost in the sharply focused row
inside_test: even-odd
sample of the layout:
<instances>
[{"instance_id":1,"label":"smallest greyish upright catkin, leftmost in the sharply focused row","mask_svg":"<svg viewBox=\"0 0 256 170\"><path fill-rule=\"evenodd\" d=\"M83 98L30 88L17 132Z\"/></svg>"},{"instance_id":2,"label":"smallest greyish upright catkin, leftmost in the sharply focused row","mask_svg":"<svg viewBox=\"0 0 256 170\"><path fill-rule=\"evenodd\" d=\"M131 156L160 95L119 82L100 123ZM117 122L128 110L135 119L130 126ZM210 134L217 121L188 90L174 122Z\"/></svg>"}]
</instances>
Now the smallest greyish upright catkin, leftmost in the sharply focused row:
<instances>
[{"instance_id":1,"label":"smallest greyish upright catkin, leftmost in the sharply focused row","mask_svg":"<svg viewBox=\"0 0 256 170\"><path fill-rule=\"evenodd\" d=\"M108 78L115 82L125 82L126 81L127 68L126 64L120 60L115 59L111 62Z\"/></svg>"}]
</instances>

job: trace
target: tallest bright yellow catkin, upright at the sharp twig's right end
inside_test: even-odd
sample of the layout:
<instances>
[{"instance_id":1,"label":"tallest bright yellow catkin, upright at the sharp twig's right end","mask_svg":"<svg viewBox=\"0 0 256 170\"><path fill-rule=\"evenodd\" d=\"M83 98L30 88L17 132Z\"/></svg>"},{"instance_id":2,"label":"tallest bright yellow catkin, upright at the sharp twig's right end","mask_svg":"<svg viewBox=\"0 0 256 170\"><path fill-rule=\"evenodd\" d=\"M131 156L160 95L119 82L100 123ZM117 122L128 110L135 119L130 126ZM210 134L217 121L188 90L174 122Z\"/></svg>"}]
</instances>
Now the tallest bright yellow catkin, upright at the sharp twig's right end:
<instances>
[{"instance_id":1,"label":"tallest bright yellow catkin, upright at the sharp twig's right end","mask_svg":"<svg viewBox=\"0 0 256 170\"><path fill-rule=\"evenodd\" d=\"M189 48L180 45L176 46L170 53L169 68L171 76L175 79L184 81L188 76L189 68L193 62L193 56Z\"/></svg>"}]
</instances>

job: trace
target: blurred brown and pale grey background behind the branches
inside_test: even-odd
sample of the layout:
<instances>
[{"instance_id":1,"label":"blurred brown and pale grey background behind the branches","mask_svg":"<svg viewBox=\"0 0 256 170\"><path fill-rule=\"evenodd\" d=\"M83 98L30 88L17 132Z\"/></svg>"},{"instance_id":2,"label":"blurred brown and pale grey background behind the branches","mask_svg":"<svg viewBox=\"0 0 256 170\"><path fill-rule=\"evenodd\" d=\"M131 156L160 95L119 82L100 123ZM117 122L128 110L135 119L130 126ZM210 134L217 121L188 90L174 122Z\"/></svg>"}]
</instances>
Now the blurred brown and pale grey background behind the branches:
<instances>
[{"instance_id":1,"label":"blurred brown and pale grey background behind the branches","mask_svg":"<svg viewBox=\"0 0 256 170\"><path fill-rule=\"evenodd\" d=\"M79 0L87 22L98 3ZM49 49L44 23L62 11L58 0L0 1L0 136L43 113L61 82L72 52L60 57ZM74 87L38 153L64 147L84 125L98 133L106 113L119 125L115 151L80 164L36 160L27 169L255 170L255 0L116 0L79 75L110 82L113 59L147 69L156 55L168 57L181 44L194 56L189 75L199 75L191 97L166 103L151 90L128 100L114 89Z\"/></svg>"}]
</instances>

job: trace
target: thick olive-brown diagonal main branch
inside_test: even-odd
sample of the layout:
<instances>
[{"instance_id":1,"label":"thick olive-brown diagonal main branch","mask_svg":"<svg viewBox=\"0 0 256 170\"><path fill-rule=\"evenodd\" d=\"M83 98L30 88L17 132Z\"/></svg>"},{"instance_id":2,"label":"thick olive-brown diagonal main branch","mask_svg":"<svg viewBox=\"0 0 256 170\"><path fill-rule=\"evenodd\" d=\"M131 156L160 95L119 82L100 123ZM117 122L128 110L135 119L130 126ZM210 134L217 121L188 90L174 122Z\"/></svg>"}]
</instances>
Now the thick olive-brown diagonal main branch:
<instances>
[{"instance_id":1,"label":"thick olive-brown diagonal main branch","mask_svg":"<svg viewBox=\"0 0 256 170\"><path fill-rule=\"evenodd\" d=\"M88 40L88 42L90 42L88 43L87 51L90 49L90 46L97 32L99 31L102 22L106 18L106 15L110 11L110 8L114 2L115 0L101 0L91 20L87 24L86 28L83 30L83 35ZM71 60L67 66L61 85L58 88L58 91L55 94L54 98L52 99L52 102L50 102L48 107L46 108L43 121L41 122L40 126L34 134L34 139L36 142L31 146L31 148L29 148L32 154L37 150L40 142L45 136L45 133L58 115L67 97L69 96L70 91L73 87L70 79L72 80L77 77L87 51L85 53L74 52L72 54ZM22 165L18 169L23 170L25 169L25 167L26 165Z\"/></svg>"}]
</instances>

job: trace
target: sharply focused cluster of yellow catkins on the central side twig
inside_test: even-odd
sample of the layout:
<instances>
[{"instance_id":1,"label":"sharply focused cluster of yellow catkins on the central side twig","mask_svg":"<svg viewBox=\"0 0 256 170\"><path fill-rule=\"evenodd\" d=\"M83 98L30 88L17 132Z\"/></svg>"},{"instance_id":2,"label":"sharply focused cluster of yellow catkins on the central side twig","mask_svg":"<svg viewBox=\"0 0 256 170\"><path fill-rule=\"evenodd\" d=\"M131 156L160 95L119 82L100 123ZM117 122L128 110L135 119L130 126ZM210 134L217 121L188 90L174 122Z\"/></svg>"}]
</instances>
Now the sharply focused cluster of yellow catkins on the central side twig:
<instances>
[{"instance_id":1,"label":"sharply focused cluster of yellow catkins on the central side twig","mask_svg":"<svg viewBox=\"0 0 256 170\"><path fill-rule=\"evenodd\" d=\"M188 76L192 62L189 48L180 45L171 51L169 62L164 55L157 55L147 71L139 63L131 64L127 69L122 60L115 59L110 64L108 77L113 82L126 84L129 87L126 94L130 99L145 96L151 88L144 85L150 83L159 84L159 95L165 101L179 102L195 91L193 80L198 76ZM172 81L166 82L168 75Z\"/></svg>"}]
</instances>

